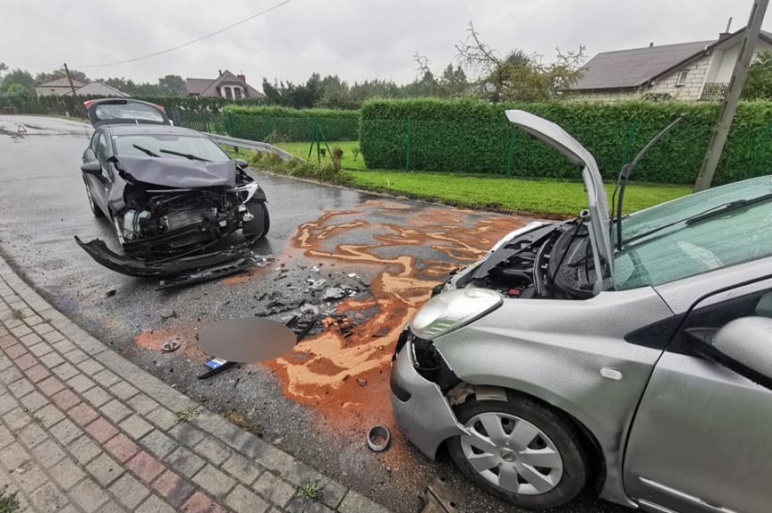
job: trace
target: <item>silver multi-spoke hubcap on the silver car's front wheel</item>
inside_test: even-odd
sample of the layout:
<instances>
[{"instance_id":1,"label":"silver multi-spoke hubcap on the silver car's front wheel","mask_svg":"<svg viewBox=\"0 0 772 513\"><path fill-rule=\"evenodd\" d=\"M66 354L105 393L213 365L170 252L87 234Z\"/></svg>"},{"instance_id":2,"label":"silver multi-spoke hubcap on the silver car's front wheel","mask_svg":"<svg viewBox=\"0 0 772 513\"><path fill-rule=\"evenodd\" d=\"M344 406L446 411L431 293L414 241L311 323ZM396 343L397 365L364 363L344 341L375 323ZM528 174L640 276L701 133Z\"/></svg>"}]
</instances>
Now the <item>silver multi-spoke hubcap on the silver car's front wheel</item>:
<instances>
[{"instance_id":1,"label":"silver multi-spoke hubcap on the silver car's front wheel","mask_svg":"<svg viewBox=\"0 0 772 513\"><path fill-rule=\"evenodd\" d=\"M479 475L506 492L539 495L563 476L563 458L547 434L519 416L471 417L461 437L464 457Z\"/></svg>"}]
</instances>

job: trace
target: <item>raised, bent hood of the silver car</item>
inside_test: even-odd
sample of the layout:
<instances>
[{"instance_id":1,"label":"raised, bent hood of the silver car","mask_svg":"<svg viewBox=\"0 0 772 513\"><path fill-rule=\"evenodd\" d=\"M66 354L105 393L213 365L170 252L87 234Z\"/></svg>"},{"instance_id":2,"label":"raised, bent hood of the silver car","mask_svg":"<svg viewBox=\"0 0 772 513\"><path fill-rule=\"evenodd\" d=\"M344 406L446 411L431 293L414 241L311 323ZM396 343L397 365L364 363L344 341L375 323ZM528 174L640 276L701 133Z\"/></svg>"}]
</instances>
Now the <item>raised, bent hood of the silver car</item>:
<instances>
[{"instance_id":1,"label":"raised, bent hood of the silver car","mask_svg":"<svg viewBox=\"0 0 772 513\"><path fill-rule=\"evenodd\" d=\"M520 110L506 111L506 117L517 127L535 138L555 147L573 164L581 166L581 178L587 189L590 210L590 238L595 268L598 270L598 290L607 288L614 275L614 251L608 232L608 196L598 164L587 148L554 122Z\"/></svg>"}]
</instances>

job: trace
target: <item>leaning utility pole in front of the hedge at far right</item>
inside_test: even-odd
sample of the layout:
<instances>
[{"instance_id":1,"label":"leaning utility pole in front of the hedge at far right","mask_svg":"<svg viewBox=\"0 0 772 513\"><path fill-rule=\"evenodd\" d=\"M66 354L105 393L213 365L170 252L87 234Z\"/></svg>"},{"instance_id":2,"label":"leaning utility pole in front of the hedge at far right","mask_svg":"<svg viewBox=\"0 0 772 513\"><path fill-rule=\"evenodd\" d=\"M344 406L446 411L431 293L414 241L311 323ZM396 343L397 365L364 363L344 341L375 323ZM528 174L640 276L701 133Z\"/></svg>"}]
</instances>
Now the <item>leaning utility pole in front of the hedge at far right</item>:
<instances>
[{"instance_id":1,"label":"leaning utility pole in front of the hedge at far right","mask_svg":"<svg viewBox=\"0 0 772 513\"><path fill-rule=\"evenodd\" d=\"M724 151L726 138L729 136L729 128L732 126L734 114L737 113L737 103L740 101L742 88L745 87L745 79L748 78L748 69L751 67L753 50L759 41L761 21L764 21L764 14L767 13L768 3L768 0L754 0L753 7L751 7L751 18L742 37L740 55L737 57L737 62L734 63L732 79L729 80L729 88L726 91L724 101L721 103L718 122L710 136L708 153L705 154L700 174L697 175L697 181L694 182L694 192L708 189L710 182L713 181L713 175L716 174L718 161Z\"/></svg>"}]
</instances>

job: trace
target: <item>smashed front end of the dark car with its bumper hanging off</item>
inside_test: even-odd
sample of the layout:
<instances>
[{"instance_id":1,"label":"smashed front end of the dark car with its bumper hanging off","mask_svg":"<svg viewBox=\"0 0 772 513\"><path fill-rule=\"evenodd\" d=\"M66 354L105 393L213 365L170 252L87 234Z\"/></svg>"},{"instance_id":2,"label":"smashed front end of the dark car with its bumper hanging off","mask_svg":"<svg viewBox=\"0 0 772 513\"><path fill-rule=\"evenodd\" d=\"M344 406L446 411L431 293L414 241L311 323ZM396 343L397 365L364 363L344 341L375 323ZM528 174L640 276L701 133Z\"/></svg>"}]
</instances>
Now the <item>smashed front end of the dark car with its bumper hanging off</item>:
<instances>
[{"instance_id":1,"label":"smashed front end of the dark car with its bumper hanging off","mask_svg":"<svg viewBox=\"0 0 772 513\"><path fill-rule=\"evenodd\" d=\"M102 240L75 240L95 261L116 273L164 277L161 288L201 282L254 264L250 246L265 235L267 226L255 231L253 220L267 219L265 203L257 181L206 189L127 182L110 203L123 255ZM242 228L243 240L226 245L225 239Z\"/></svg>"}]
</instances>

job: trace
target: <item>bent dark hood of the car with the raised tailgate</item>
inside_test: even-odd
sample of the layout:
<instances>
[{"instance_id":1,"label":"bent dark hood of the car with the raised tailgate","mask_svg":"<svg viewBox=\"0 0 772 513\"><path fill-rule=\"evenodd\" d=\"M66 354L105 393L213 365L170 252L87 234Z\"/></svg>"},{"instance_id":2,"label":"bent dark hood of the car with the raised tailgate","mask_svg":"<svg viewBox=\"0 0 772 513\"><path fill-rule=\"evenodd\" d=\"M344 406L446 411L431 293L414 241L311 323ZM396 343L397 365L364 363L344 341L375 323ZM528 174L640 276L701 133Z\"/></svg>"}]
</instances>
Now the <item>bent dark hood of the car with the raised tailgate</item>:
<instances>
[{"instance_id":1,"label":"bent dark hood of the car with the raised tailgate","mask_svg":"<svg viewBox=\"0 0 772 513\"><path fill-rule=\"evenodd\" d=\"M156 156L118 156L115 166L126 180L174 189L236 186L236 164Z\"/></svg>"}]
</instances>

